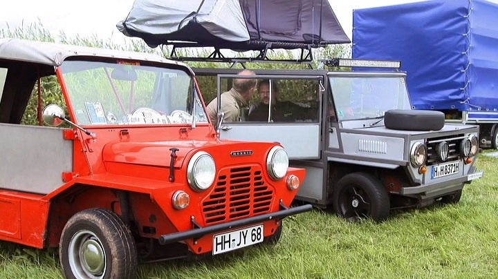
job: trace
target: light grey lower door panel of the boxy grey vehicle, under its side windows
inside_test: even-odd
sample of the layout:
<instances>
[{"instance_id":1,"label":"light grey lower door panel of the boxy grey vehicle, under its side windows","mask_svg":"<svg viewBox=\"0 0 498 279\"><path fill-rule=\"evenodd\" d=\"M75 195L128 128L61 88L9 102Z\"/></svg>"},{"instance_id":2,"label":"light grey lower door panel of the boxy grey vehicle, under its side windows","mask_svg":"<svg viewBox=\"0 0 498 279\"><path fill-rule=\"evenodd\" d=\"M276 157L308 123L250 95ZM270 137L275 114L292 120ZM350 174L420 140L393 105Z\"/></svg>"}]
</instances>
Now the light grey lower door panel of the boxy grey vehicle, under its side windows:
<instances>
[{"instance_id":1,"label":"light grey lower door panel of the boxy grey vehicle, under its side windows","mask_svg":"<svg viewBox=\"0 0 498 279\"><path fill-rule=\"evenodd\" d=\"M279 142L289 159L320 158L320 124L225 124L221 139Z\"/></svg>"}]
</instances>

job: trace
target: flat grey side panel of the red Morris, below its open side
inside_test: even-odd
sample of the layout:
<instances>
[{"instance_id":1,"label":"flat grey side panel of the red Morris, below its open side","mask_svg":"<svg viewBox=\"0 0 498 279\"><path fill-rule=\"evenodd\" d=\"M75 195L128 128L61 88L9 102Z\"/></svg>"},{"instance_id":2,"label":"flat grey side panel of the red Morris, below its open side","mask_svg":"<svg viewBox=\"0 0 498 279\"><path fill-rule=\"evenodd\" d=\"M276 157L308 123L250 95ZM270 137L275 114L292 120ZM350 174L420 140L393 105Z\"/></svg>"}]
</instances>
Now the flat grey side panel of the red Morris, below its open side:
<instances>
[{"instance_id":1,"label":"flat grey side panel of the red Morris, below its open side","mask_svg":"<svg viewBox=\"0 0 498 279\"><path fill-rule=\"evenodd\" d=\"M62 131L0 124L0 188L46 194L61 186L62 173L73 171L73 141Z\"/></svg>"}]
</instances>

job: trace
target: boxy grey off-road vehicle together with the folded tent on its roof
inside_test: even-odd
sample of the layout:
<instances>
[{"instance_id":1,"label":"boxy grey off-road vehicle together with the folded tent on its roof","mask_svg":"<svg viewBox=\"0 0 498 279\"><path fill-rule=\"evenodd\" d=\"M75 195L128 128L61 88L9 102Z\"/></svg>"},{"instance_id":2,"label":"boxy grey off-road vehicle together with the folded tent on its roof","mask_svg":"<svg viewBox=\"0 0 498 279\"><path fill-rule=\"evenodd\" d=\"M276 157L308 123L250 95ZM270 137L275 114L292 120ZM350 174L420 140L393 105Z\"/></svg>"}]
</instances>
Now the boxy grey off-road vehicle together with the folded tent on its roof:
<instances>
[{"instance_id":1,"label":"boxy grey off-road vehicle together with the folded tent on its roof","mask_svg":"<svg viewBox=\"0 0 498 279\"><path fill-rule=\"evenodd\" d=\"M210 22L209 28L199 21L199 17L216 17L203 12L217 10L218 2L210 2L208 7L199 1L197 12L167 17L174 32L154 23L149 26L149 19L156 14L166 17L172 10L182 10L178 8L182 4L166 2L168 6L151 8L154 1L136 1L140 5L118 28L151 46L214 48L208 57L178 57L173 51L174 59L231 62L232 66L241 63L244 68L250 61L270 62L268 50L276 48L300 49L301 57L293 61L311 65L313 48L349 42L327 1L228 1L238 10L225 16L237 19L240 30L246 30L248 37L243 41L224 36L222 19ZM286 8L275 10L273 6ZM267 11L275 14L270 17ZM182 20L175 22L176 18ZM286 28L281 22L288 23ZM297 22L301 24L291 25ZM188 42L182 35L186 32L193 34ZM206 40L205 35L217 39ZM257 55L228 57L223 50L254 50ZM240 121L223 121L219 107L216 128L222 139L273 141L285 146L290 164L306 169L297 199L323 207L331 204L347 219L381 221L391 209L458 202L463 186L482 176L474 166L479 128L445 124L439 112L412 110L406 74L398 71L398 61L326 59L317 69L272 68L254 70L255 75L248 77L269 83L273 97L265 106L266 117L251 117L254 108L263 104L260 92L252 97L250 106L241 109ZM220 99L221 93L231 88L239 70L194 68L194 72L210 101ZM291 106L277 107L284 102L292 102L292 110L288 110Z\"/></svg>"}]
</instances>

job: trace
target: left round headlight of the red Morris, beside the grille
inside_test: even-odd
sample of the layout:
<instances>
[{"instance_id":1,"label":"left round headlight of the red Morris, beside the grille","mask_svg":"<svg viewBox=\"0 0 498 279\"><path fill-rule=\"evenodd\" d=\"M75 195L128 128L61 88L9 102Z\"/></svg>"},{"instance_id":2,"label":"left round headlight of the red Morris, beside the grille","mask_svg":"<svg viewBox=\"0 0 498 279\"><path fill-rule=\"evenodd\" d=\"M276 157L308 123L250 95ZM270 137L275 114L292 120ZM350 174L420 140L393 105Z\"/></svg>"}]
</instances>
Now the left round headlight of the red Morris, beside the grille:
<instances>
[{"instance_id":1,"label":"left round headlight of the red Morris, beside the grille","mask_svg":"<svg viewBox=\"0 0 498 279\"><path fill-rule=\"evenodd\" d=\"M187 166L187 181L194 191L208 189L214 182L216 166L208 153L199 151L192 156Z\"/></svg>"}]
</instances>

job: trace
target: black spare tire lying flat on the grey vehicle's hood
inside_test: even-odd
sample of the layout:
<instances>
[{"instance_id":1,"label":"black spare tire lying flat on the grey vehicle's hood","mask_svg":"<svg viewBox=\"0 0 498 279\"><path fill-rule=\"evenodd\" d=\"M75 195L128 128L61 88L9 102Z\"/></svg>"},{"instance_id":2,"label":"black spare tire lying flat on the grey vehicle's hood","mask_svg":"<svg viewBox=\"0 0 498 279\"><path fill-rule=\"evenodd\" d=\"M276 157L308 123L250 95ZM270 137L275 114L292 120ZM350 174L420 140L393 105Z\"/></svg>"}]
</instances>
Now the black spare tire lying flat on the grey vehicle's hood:
<instances>
[{"instance_id":1,"label":"black spare tire lying flat on the grey vehicle's hood","mask_svg":"<svg viewBox=\"0 0 498 279\"><path fill-rule=\"evenodd\" d=\"M445 115L436 110L387 110L384 125L393 130L439 131L443 128Z\"/></svg>"}]
</instances>

